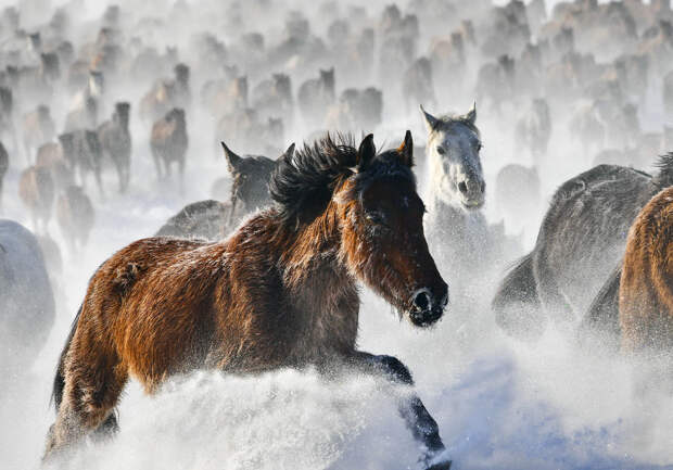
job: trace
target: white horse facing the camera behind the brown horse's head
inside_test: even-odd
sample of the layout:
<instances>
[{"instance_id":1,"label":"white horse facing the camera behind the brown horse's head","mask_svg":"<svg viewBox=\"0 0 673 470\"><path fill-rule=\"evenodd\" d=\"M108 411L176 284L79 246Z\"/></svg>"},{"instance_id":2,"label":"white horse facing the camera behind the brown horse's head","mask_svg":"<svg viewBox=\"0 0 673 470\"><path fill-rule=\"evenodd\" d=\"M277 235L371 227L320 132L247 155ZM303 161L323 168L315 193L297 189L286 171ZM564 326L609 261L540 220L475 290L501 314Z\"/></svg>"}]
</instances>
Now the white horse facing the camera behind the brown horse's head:
<instances>
[{"instance_id":1,"label":"white horse facing the camera behind the brown horse's head","mask_svg":"<svg viewBox=\"0 0 673 470\"><path fill-rule=\"evenodd\" d=\"M495 283L519 250L505 237L501 226L488 226L481 211L486 183L480 157L481 134L475 125L477 105L465 115L435 117L422 106L421 112L428 127L428 241L441 271L453 282L453 291L469 295L470 285L483 288L483 282L477 280L484 276Z\"/></svg>"}]
</instances>

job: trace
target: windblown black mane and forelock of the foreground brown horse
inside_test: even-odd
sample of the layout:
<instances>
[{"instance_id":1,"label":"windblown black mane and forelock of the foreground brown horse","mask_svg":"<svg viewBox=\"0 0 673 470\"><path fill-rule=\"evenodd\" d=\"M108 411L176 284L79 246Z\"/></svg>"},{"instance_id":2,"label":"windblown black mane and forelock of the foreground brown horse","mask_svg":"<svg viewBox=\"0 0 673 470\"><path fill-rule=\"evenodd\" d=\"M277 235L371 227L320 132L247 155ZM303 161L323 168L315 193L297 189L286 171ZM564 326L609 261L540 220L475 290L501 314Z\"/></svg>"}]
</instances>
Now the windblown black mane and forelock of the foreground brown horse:
<instances>
[{"instance_id":1,"label":"windblown black mane and forelock of the foreground brown horse","mask_svg":"<svg viewBox=\"0 0 673 470\"><path fill-rule=\"evenodd\" d=\"M310 223L325 211L336 183L356 174L357 149L351 135L328 134L313 145L277 162L269 193L283 223L295 227ZM403 164L395 150L378 154L365 170L357 172L355 190L361 191L380 177L415 180L411 169Z\"/></svg>"}]
</instances>

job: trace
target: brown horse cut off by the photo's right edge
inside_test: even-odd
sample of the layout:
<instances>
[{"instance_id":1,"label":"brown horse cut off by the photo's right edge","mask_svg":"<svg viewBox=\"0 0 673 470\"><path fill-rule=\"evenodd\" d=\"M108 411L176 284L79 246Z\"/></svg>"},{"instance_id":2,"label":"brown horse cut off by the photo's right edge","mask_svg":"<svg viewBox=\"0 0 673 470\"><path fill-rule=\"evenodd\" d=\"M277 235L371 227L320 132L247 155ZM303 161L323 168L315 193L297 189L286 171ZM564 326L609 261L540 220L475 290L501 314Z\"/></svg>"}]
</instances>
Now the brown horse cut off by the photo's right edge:
<instances>
[{"instance_id":1,"label":"brown horse cut off by the photo's right edge","mask_svg":"<svg viewBox=\"0 0 673 470\"><path fill-rule=\"evenodd\" d=\"M622 348L673 351L673 187L647 203L626 241L619 290Z\"/></svg>"}]
</instances>

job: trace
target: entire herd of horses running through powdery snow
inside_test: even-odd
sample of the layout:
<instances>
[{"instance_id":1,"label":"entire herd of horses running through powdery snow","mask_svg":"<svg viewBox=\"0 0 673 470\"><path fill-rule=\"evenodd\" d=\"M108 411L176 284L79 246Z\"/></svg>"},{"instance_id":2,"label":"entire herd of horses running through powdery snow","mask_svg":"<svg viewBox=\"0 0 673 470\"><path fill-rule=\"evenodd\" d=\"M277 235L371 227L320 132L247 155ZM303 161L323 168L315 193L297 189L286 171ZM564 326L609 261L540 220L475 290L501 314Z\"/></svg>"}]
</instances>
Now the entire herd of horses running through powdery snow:
<instances>
[{"instance_id":1,"label":"entire herd of horses running through powdery snow","mask_svg":"<svg viewBox=\"0 0 673 470\"><path fill-rule=\"evenodd\" d=\"M423 1L416 3L418 11L428 8ZM494 283L490 312L495 323L515 338L535 341L553 322L582 341L601 341L624 355L673 351L673 153L661 152L659 145L648 154L648 165L639 165L649 149L643 143L646 134L638 128L637 135L628 137L624 131L635 111L622 106L621 94L613 89L628 91L634 81L642 85L632 76L639 77L639 62L615 60L602 69L602 64L574 50L574 36L566 27L551 28L556 33L544 47L520 45L525 29L521 9L526 22L537 22L536 27L544 29L539 3L513 0L494 8L503 45L497 35L482 42L495 59L479 69L480 103L488 103L493 114L501 115L512 106L517 90L533 93L537 82L554 87L563 81L560 76L575 84L568 85L568 93L580 93L579 77L588 69L601 69L605 75L587 87L591 91L585 90L594 101L571 117L569 127L585 151L596 144L598 135L623 143L623 149L600 152L596 165L558 187L530 253L520 257L516 237L490 224L483 212L487 192L477 103L464 114L435 113L443 100L435 94L432 67L444 78L464 81L466 75L458 72L469 62L464 48L477 45L470 22L461 22L443 43L433 42L431 60L403 62L401 54L404 59L419 36L418 18L403 16L394 5L383 12L377 29L383 38L380 73L399 76L403 105L409 113L410 103L420 104L418 118L427 129L423 145L415 147L409 130L398 145L384 151L377 150L372 134L356 140L354 129L370 132L384 120L382 92L374 87L348 88L336 100L332 67L321 68L317 78L297 88L304 122L320 124L303 145L285 148L282 129L294 119L290 78L274 74L261 81L250 106L246 77L223 66L223 77L203 84L201 104L219 113L216 132L227 136L227 142L218 147L229 175L215 181L213 199L183 206L153 237L115 252L92 272L58 361L52 390L56 418L48 432L43 460L67 458L82 440L114 433L118 429L115 407L130 379L153 394L172 377L196 369L255 374L315 367L326 376L373 374L405 389L408 393L397 406L420 446L419 463L423 469L448 469L452 461L439 425L414 392L408 368L393 356L357 347L359 284L418 329L432 330L447 308L461 313L477 308L484 292L490 293L483 287ZM634 11L640 8L634 7L639 2L631 3ZM599 7L594 1L571 5L568 11L576 16L564 16L564 7L556 16L582 25L583 17L591 18L586 24L599 24L625 14L621 7ZM655 8L661 8L659 2L652 2ZM356 13L350 13L351 20L358 17ZM0 196L10 163L17 165L14 157L24 154L28 165L16 178L17 194L35 229L34 233L17 221L0 219L0 287L8 293L0 295L0 342L11 352L0 366L10 373L33 363L56 317L50 275L52 265L61 261L47 234L53 207L68 252L76 257L85 251L96 219L86 191L88 175L93 174L103 202L111 198L104 189L106 168L114 168L118 192L129 191L135 151L131 105L117 101L118 96L106 103L109 84L103 77L124 84L122 69L134 77L154 77L153 65L173 71L175 77L156 81L138 107L148 125L148 147L160 181L170 185L175 163L176 193L185 193L186 155L196 140L187 128L195 107L191 68L172 50L162 56L148 48L125 58L119 16L119 8L105 11L96 42L81 48L80 54L89 59L84 65L65 42L54 41L51 51L39 35L18 28L15 11L5 10L0 16L1 24L14 27L16 37L27 39L28 49L21 54L37 51L40 61L35 71L12 65L0 72L0 139L10 142L7 147L0 142ZM68 15L61 11L48 29L59 38L67 24ZM200 37L194 67L207 68L204 64L231 54L252 61L254 69L271 59L287 55L294 58L291 63L309 61L323 51L301 17L291 16L287 27L290 38L268 56L263 53L262 35L242 34L242 46L237 46L241 49L227 53L215 37ZM336 21L328 29L333 50L341 51L333 53L334 61L342 61L342 68L354 64L354 76L364 73L363 64L371 62L374 31L365 27L341 45L351 34L348 24ZM655 39L660 42L653 43ZM661 52L656 46L669 41L673 51L671 23L658 22L642 36L636 34L636 40L651 46L644 56L668 56L668 49ZM515 73L515 60L499 52L501 47L519 46L521 68ZM542 63L543 51L558 62L550 59L544 77L526 80L526 74L536 71L526 67ZM16 59L3 54L2 61ZM54 78L59 58L71 63L67 80ZM406 62L414 65L401 73L397 66ZM74 91L75 104L64 116L60 135L50 107L37 104L48 100L38 92L42 86ZM663 86L665 92L665 79ZM554 101L558 97L548 93L548 98L558 105ZM13 99L30 110L21 124L23 145L13 129ZM613 99L620 103L617 107ZM100 123L99 112L106 104L112 104L111 117ZM517 211L534 211L526 204L541 191L537 167L551 136L547 100L535 98L530 104L512 135L517 151L525 147L534 165L505 166L496 179L498 202L516 201L515 218ZM657 142L665 141L659 137ZM255 153L236 153L240 149ZM614 164L620 158L628 162ZM634 163L651 164L656 172L636 169L631 166ZM0 211L1 204L2 199Z\"/></svg>"}]
</instances>

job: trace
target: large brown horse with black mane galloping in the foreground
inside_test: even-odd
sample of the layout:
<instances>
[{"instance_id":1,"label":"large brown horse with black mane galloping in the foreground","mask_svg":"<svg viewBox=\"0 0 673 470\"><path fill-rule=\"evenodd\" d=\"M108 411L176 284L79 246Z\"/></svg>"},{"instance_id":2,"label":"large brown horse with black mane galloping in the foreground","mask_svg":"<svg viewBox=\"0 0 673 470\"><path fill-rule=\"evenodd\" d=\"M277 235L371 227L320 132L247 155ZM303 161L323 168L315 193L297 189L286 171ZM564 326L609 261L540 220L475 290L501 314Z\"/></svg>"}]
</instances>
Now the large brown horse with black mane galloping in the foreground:
<instances>
[{"instance_id":1,"label":"large brown horse with black mane galloping in the foreground","mask_svg":"<svg viewBox=\"0 0 673 470\"><path fill-rule=\"evenodd\" d=\"M411 134L376 153L329 136L285 154L275 205L229 239L137 241L93 275L54 380L47 454L116 429L130 376L148 393L195 368L254 373L351 366L411 385L391 356L356 350L361 281L417 327L436 322L448 288L428 251L411 173ZM437 424L416 395L399 404L423 463L447 469Z\"/></svg>"}]
</instances>

